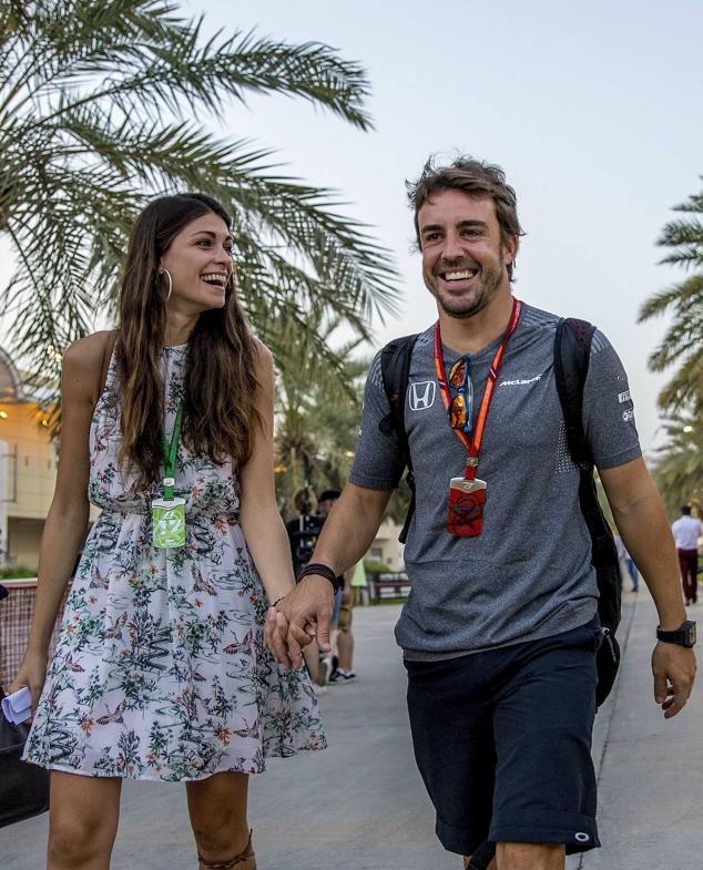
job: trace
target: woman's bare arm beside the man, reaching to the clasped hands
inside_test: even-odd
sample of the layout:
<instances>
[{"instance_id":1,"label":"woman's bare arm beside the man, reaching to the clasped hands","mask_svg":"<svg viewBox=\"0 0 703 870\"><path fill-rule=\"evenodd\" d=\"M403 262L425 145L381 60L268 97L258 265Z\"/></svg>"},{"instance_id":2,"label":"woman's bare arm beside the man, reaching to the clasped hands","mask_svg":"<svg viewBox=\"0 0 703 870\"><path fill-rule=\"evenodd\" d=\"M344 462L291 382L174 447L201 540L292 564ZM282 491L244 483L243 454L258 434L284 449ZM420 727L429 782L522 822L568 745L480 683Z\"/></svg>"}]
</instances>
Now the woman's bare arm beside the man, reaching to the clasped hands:
<instances>
[{"instance_id":1,"label":"woman's bare arm beside the man, reaching to the clasped hands","mask_svg":"<svg viewBox=\"0 0 703 870\"><path fill-rule=\"evenodd\" d=\"M254 434L249 461L241 470L242 531L271 603L295 585L291 546L276 503L274 484L274 365L271 351L256 342L256 408L262 427Z\"/></svg>"}]
</instances>

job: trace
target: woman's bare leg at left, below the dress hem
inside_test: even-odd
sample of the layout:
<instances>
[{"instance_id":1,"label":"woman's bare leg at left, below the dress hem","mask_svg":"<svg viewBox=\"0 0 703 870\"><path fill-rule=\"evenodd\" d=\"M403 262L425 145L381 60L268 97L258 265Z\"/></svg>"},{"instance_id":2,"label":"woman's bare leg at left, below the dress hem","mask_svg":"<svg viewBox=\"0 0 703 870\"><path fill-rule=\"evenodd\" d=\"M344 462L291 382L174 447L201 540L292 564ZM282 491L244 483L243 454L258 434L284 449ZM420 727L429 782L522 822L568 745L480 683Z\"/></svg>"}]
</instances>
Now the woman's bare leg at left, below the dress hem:
<instances>
[{"instance_id":1,"label":"woman's bare leg at left, below the dress hem","mask_svg":"<svg viewBox=\"0 0 703 870\"><path fill-rule=\"evenodd\" d=\"M48 870L108 870L122 780L51 772Z\"/></svg>"}]
</instances>

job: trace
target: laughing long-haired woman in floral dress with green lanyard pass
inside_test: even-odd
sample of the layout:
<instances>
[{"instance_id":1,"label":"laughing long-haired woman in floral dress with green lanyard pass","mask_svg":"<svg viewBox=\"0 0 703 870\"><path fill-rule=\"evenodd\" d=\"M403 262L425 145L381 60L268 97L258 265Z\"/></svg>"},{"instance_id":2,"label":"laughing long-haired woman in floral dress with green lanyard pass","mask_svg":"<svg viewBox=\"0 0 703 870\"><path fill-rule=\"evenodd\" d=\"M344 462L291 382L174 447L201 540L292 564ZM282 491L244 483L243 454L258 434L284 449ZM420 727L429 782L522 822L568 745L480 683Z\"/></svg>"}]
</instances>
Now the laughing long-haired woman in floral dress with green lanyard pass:
<instances>
[{"instance_id":1,"label":"laughing long-haired woman in floral dress with green lanyard pass","mask_svg":"<svg viewBox=\"0 0 703 870\"><path fill-rule=\"evenodd\" d=\"M324 748L307 675L263 645L267 603L294 581L272 357L236 299L230 227L201 194L151 203L116 340L96 332L64 356L57 489L12 687L35 707L26 757L52 769L50 870L110 866L125 777L185 781L201 869L254 870L248 774ZM47 673L89 499L102 513Z\"/></svg>"}]
</instances>

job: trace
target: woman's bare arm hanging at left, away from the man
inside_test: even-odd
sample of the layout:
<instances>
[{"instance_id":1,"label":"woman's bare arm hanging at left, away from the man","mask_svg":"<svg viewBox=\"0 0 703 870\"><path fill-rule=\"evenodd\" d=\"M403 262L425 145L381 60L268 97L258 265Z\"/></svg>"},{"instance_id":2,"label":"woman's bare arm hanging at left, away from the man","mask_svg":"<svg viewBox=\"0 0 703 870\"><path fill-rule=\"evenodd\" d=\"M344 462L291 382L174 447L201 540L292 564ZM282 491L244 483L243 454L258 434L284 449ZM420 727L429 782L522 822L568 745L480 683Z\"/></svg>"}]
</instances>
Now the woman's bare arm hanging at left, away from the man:
<instances>
[{"instance_id":1,"label":"woman's bare arm hanging at left, away from the man","mask_svg":"<svg viewBox=\"0 0 703 870\"><path fill-rule=\"evenodd\" d=\"M10 686L29 686L32 710L47 671L47 655L59 605L85 538L90 505L90 423L100 389L99 379L108 332L71 345L61 373L61 446L53 500L39 551L37 600L27 652Z\"/></svg>"}]
</instances>

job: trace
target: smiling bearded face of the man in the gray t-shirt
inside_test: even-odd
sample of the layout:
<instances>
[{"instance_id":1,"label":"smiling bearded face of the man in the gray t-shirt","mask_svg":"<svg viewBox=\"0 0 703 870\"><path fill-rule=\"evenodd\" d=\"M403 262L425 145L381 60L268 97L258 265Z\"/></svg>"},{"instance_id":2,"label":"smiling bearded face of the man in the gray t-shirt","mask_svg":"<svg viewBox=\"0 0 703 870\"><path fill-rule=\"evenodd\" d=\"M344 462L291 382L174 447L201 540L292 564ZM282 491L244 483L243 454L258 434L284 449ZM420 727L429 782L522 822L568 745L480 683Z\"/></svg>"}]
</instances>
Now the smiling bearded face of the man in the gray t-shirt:
<instances>
[{"instance_id":1,"label":"smiling bearded face of the man in the gray t-shirt","mask_svg":"<svg viewBox=\"0 0 703 870\"><path fill-rule=\"evenodd\" d=\"M507 265L518 238L505 244L488 196L440 191L418 213L422 278L450 317L473 317L499 290L510 291Z\"/></svg>"}]
</instances>

